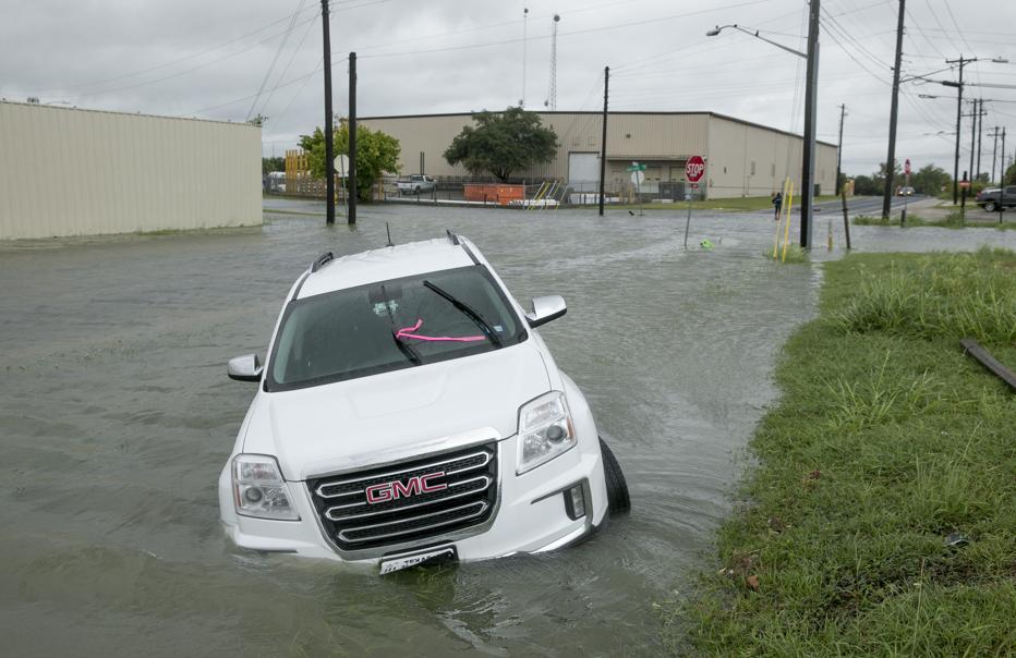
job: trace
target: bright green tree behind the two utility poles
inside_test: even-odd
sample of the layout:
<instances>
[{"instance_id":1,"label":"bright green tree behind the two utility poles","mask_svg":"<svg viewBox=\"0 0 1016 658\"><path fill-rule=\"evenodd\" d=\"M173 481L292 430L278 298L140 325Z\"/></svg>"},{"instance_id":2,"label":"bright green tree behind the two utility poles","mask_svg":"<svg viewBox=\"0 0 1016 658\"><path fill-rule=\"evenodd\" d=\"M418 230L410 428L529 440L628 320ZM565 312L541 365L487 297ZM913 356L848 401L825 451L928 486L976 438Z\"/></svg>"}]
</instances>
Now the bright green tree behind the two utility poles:
<instances>
[{"instance_id":1,"label":"bright green tree behind the two utility poles","mask_svg":"<svg viewBox=\"0 0 1016 658\"><path fill-rule=\"evenodd\" d=\"M341 120L335 130L336 155L349 155L349 122ZM311 175L317 179L325 178L325 132L315 127L310 135L300 135L300 147L307 153L307 162L311 166ZM399 170L399 154L402 148L399 141L368 127L356 126L356 197L362 200L371 199L371 188L374 183L387 172L396 173Z\"/></svg>"}]
</instances>

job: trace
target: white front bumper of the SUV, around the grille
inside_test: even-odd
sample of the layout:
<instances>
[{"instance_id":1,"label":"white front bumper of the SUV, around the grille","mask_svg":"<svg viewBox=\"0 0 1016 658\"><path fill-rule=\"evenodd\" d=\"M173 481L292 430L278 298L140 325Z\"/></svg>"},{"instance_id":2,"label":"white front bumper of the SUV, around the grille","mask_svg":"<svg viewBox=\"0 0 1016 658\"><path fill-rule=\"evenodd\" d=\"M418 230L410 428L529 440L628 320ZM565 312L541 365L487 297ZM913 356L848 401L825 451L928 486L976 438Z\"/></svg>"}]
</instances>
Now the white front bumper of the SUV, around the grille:
<instances>
[{"instance_id":1,"label":"white front bumper of the SUV, around the grille","mask_svg":"<svg viewBox=\"0 0 1016 658\"><path fill-rule=\"evenodd\" d=\"M497 442L499 467L498 505L491 521L457 533L458 537L431 538L426 547L453 544L462 561L486 560L518 552L554 550L582 538L606 520L607 497L603 474L603 458L592 419L574 418L578 444L536 468L516 475L517 437ZM565 491L584 484L585 515L572 520L565 505ZM240 548L295 553L362 564L376 564L386 553L412 552L383 547L343 553L328 541L317 521L306 483L288 483L300 521L271 521L235 514L229 465L219 477L219 508L222 525L230 539ZM485 529L484 529L485 528ZM461 536L468 535L468 536ZM423 550L424 547L421 547Z\"/></svg>"}]
</instances>

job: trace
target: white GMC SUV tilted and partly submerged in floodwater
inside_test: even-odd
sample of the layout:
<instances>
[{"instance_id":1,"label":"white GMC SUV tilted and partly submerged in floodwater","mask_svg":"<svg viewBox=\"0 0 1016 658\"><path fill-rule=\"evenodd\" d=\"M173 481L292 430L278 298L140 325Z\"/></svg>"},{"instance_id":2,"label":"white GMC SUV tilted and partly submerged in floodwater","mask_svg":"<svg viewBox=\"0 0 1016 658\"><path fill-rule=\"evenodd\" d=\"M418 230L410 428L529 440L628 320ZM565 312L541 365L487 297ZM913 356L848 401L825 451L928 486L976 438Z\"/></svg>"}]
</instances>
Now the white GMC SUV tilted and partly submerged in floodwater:
<instances>
[{"instance_id":1,"label":"white GMC SUV tilted and partly submerged in floodwater","mask_svg":"<svg viewBox=\"0 0 1016 658\"><path fill-rule=\"evenodd\" d=\"M237 546L378 565L572 544L629 507L585 398L475 245L318 257L292 287L219 477Z\"/></svg>"}]
</instances>

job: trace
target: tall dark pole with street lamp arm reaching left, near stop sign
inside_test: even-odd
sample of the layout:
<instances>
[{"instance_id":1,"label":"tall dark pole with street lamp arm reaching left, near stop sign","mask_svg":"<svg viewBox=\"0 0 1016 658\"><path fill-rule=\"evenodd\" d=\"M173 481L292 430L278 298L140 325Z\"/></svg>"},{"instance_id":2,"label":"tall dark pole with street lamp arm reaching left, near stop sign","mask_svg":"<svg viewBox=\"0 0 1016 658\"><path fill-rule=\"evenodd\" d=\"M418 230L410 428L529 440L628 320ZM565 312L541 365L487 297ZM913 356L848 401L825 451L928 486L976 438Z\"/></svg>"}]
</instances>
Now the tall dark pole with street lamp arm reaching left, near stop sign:
<instances>
[{"instance_id":1,"label":"tall dark pole with street lamp arm reaching left, near stop sign","mask_svg":"<svg viewBox=\"0 0 1016 658\"><path fill-rule=\"evenodd\" d=\"M705 33L707 37L714 37L724 29L730 28L742 32L749 36L762 39L771 46L796 54L808 62L808 80L805 86L805 149L801 158L801 246L811 248L813 219L812 209L814 206L814 176L815 176L815 95L819 89L819 0L811 0L809 3L809 26L808 26L808 52L801 52L767 39L759 34L759 31L746 29L737 24L717 25Z\"/></svg>"}]
</instances>

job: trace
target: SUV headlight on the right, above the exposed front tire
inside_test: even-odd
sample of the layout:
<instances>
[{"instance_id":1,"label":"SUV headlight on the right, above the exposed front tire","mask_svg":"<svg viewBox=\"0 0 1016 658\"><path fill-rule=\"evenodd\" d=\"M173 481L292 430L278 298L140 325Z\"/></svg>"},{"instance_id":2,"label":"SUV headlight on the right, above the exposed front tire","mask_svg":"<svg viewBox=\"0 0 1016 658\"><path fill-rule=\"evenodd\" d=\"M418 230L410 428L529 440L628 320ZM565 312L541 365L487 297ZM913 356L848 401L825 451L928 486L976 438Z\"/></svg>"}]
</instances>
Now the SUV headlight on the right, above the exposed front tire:
<instances>
[{"instance_id":1,"label":"SUV headlight on the right, above the exposed front tire","mask_svg":"<svg viewBox=\"0 0 1016 658\"><path fill-rule=\"evenodd\" d=\"M519 409L519 466L521 475L573 448L574 426L565 394L551 391Z\"/></svg>"}]
</instances>

